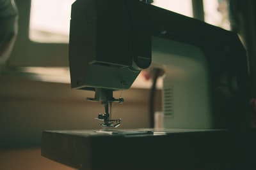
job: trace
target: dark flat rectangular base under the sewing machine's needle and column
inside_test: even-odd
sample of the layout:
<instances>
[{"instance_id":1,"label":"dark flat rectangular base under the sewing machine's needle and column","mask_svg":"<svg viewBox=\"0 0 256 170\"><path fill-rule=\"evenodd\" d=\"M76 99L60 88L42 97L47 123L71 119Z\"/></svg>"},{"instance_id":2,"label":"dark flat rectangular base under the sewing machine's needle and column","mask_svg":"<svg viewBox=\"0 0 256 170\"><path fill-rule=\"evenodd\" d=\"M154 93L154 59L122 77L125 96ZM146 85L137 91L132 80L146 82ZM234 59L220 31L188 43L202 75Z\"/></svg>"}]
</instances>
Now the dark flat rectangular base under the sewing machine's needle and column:
<instances>
[{"instance_id":1,"label":"dark flat rectangular base under the sewing machine's needle and column","mask_svg":"<svg viewBox=\"0 0 256 170\"><path fill-rule=\"evenodd\" d=\"M255 169L256 131L44 131L42 156L76 169Z\"/></svg>"}]
</instances>

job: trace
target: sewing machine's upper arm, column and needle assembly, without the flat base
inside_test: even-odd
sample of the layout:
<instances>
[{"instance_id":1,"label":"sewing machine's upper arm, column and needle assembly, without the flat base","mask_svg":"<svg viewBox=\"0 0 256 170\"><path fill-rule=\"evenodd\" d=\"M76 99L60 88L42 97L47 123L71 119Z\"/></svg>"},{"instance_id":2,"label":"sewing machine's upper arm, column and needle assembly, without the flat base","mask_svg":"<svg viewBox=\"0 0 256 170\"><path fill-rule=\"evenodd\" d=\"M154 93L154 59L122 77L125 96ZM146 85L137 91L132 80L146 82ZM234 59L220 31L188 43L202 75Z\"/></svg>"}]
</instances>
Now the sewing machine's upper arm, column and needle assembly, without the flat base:
<instances>
[{"instance_id":1,"label":"sewing machine's upper arm, column and needle assembly, without the flat base","mask_svg":"<svg viewBox=\"0 0 256 170\"><path fill-rule=\"evenodd\" d=\"M164 70L164 127L247 125L246 52L234 32L139 0L77 0L70 21L72 88L95 91L104 127L116 127L109 106L124 99L141 69Z\"/></svg>"}]
</instances>

